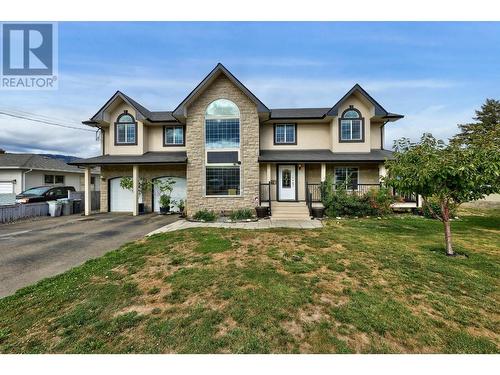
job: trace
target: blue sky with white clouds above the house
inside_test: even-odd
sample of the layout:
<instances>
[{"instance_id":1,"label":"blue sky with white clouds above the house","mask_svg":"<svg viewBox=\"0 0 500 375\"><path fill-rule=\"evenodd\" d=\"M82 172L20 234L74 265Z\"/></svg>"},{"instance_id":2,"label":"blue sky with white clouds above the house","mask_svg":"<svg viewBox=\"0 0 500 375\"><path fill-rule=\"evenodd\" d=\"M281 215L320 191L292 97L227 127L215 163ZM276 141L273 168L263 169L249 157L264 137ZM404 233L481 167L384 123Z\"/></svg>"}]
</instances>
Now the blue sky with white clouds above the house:
<instances>
[{"instance_id":1,"label":"blue sky with white clouds above the house","mask_svg":"<svg viewBox=\"0 0 500 375\"><path fill-rule=\"evenodd\" d=\"M359 83L404 119L394 139L447 139L500 98L500 23L58 23L59 88L0 90L0 111L87 129L121 90L150 110L173 110L218 63L269 108L333 106ZM98 155L96 134L0 114L8 152Z\"/></svg>"}]
</instances>

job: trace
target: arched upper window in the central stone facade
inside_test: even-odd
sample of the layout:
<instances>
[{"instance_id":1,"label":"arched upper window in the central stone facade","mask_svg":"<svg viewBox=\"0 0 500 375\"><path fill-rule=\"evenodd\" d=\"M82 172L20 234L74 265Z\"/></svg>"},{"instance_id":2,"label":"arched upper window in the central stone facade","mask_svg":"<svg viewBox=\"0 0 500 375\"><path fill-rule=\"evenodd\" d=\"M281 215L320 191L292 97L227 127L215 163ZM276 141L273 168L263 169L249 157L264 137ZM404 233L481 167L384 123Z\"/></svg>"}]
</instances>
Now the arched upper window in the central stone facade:
<instances>
[{"instance_id":1,"label":"arched upper window in the central stone facade","mask_svg":"<svg viewBox=\"0 0 500 375\"><path fill-rule=\"evenodd\" d=\"M240 147L240 110L232 101L218 99L205 113L207 149Z\"/></svg>"}]
</instances>

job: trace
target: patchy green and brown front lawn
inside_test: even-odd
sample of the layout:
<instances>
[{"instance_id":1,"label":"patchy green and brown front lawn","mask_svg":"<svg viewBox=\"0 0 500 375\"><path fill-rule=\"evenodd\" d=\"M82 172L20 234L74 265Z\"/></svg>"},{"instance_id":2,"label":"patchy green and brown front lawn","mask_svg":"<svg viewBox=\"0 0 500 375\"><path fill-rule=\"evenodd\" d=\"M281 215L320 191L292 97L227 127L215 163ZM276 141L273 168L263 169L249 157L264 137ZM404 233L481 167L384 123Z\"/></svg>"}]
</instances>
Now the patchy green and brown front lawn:
<instances>
[{"instance_id":1,"label":"patchy green and brown front lawn","mask_svg":"<svg viewBox=\"0 0 500 375\"><path fill-rule=\"evenodd\" d=\"M193 229L0 300L2 353L498 353L500 210Z\"/></svg>"}]
</instances>

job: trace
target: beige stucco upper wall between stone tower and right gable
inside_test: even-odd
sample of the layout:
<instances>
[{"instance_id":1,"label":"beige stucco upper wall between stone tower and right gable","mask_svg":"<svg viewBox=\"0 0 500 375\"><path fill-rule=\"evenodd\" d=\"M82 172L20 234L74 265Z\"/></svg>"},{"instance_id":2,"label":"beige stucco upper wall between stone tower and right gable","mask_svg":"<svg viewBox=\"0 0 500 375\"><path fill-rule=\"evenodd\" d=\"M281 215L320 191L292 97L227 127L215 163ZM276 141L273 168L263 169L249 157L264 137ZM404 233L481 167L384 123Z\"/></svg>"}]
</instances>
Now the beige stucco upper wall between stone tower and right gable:
<instances>
[{"instance_id":1,"label":"beige stucco upper wall between stone tower and right gable","mask_svg":"<svg viewBox=\"0 0 500 375\"><path fill-rule=\"evenodd\" d=\"M285 123L285 122L281 122ZM274 125L260 125L260 147L262 150L331 149L329 123L298 123L296 145L274 145Z\"/></svg>"}]
</instances>

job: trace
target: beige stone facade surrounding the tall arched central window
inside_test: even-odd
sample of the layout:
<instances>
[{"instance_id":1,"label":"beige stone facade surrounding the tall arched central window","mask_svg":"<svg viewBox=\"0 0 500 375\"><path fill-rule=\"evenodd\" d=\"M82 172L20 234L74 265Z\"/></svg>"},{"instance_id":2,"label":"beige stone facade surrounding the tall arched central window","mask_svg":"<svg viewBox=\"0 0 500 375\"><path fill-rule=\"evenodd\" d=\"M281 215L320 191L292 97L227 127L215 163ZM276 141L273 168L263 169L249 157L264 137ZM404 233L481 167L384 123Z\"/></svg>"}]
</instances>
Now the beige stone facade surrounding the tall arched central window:
<instances>
[{"instance_id":1,"label":"beige stone facade surrounding the tall arched central window","mask_svg":"<svg viewBox=\"0 0 500 375\"><path fill-rule=\"evenodd\" d=\"M217 99L228 99L240 110L241 196L205 196L205 111ZM259 117L257 106L226 76L219 75L187 108L187 213L201 209L231 211L254 208L259 196Z\"/></svg>"}]
</instances>

